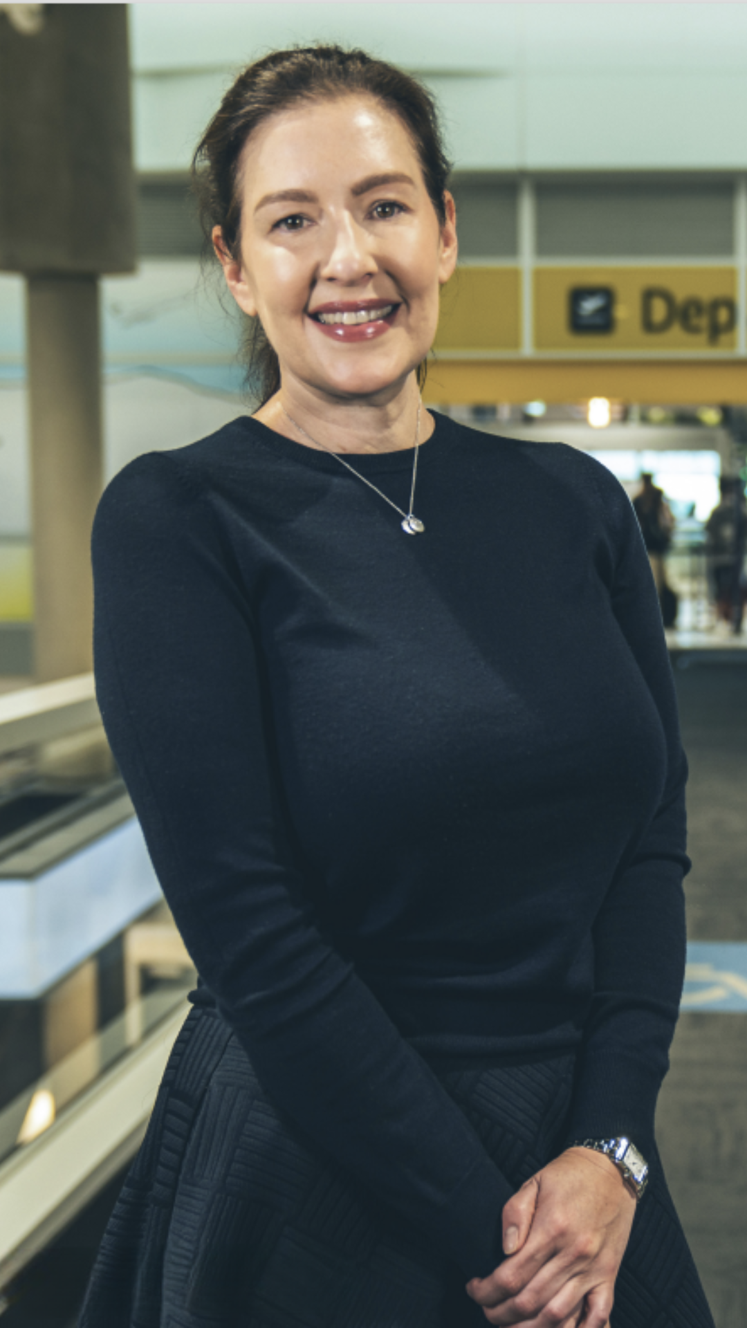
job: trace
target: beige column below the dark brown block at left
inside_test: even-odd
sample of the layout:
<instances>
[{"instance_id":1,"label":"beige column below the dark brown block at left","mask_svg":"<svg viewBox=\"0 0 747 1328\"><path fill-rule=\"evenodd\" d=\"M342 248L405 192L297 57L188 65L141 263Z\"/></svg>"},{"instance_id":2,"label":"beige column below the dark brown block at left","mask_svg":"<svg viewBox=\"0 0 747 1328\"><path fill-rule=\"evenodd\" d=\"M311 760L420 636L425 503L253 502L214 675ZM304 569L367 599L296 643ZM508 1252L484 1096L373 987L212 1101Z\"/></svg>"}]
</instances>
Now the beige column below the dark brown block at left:
<instances>
[{"instance_id":1,"label":"beige column below the dark brown block at left","mask_svg":"<svg viewBox=\"0 0 747 1328\"><path fill-rule=\"evenodd\" d=\"M90 526L102 486L98 279L29 276L35 676L93 665Z\"/></svg>"}]
</instances>

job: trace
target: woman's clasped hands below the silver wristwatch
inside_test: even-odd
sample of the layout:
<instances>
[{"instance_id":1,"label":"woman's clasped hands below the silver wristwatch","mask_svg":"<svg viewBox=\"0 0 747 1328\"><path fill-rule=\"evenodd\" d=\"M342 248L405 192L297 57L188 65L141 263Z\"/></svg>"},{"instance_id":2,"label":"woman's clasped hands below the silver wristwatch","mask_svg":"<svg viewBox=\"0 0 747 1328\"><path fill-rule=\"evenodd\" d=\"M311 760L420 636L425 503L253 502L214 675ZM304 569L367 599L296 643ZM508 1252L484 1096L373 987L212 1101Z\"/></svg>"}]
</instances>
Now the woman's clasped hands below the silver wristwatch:
<instances>
[{"instance_id":1,"label":"woman's clasped hands below the silver wristwatch","mask_svg":"<svg viewBox=\"0 0 747 1328\"><path fill-rule=\"evenodd\" d=\"M509 1258L468 1295L490 1324L609 1328L635 1198L601 1153L568 1149L504 1207Z\"/></svg>"}]
</instances>

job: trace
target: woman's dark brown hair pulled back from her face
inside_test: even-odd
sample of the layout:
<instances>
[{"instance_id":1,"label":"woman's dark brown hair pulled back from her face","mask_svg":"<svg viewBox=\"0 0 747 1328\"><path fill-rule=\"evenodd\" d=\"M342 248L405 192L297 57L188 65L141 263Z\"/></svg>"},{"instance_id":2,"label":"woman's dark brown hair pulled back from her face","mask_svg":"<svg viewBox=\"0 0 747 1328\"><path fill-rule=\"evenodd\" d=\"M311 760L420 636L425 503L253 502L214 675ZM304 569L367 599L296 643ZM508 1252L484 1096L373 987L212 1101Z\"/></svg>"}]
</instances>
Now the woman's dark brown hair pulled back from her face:
<instances>
[{"instance_id":1,"label":"woman's dark brown hair pulled back from her face","mask_svg":"<svg viewBox=\"0 0 747 1328\"><path fill-rule=\"evenodd\" d=\"M238 76L197 145L191 175L207 252L211 252L213 227L219 226L229 252L238 258L239 163L250 134L270 116L299 101L326 101L354 93L366 93L399 116L417 151L436 215L441 224L445 222L444 190L451 163L436 105L427 89L401 69L364 50L294 46L255 60ZM280 368L259 319L247 321L243 339L247 382L258 389L263 405L280 385ZM417 377L423 386L425 363L419 367Z\"/></svg>"}]
</instances>

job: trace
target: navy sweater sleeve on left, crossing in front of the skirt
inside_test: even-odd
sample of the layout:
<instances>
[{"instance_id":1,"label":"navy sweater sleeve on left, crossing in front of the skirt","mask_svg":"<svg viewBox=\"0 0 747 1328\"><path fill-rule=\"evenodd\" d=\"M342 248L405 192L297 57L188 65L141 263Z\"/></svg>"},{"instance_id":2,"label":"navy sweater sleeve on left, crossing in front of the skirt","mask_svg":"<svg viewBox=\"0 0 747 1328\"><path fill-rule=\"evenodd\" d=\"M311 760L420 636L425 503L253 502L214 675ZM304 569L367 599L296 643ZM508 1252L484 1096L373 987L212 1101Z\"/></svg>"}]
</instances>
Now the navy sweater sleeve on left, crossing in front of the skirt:
<instances>
[{"instance_id":1,"label":"navy sweater sleeve on left, crossing in front of the skirt","mask_svg":"<svg viewBox=\"0 0 747 1328\"><path fill-rule=\"evenodd\" d=\"M316 920L255 615L214 506L178 458L149 453L108 486L92 554L104 725L222 1016L298 1126L467 1276L486 1275L510 1187Z\"/></svg>"}]
</instances>

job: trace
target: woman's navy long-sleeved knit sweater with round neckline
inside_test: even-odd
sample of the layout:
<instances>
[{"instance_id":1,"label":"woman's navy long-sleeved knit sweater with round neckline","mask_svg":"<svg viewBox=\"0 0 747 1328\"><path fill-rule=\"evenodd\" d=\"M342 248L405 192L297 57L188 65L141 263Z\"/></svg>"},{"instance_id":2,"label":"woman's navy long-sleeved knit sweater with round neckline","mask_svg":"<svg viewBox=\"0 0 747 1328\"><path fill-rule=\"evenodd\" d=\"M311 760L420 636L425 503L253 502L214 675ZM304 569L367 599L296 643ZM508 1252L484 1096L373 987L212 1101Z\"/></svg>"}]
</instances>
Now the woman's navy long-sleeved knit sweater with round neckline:
<instances>
[{"instance_id":1,"label":"woman's navy long-sleeved knit sweater with round neckline","mask_svg":"<svg viewBox=\"0 0 747 1328\"><path fill-rule=\"evenodd\" d=\"M348 457L407 510L412 450ZM456 1259L509 1186L439 1058L578 1050L566 1143L646 1151L685 965L683 789L630 502L436 416L421 535L251 418L93 531L96 683L163 892L266 1090Z\"/></svg>"}]
</instances>

